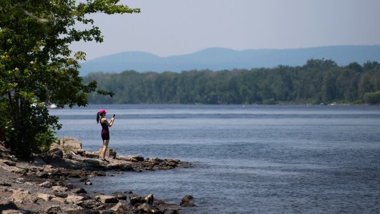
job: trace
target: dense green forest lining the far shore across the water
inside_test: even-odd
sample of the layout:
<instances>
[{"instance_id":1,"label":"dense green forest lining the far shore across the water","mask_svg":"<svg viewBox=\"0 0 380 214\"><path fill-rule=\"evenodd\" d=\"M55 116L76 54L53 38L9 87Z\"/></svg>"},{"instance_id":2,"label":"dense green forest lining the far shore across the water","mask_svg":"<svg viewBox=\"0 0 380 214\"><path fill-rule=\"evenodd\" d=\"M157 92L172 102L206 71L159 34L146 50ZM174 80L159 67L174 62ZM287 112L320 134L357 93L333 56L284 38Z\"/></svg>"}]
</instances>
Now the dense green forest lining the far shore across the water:
<instances>
[{"instance_id":1,"label":"dense green forest lining the far shore across the water","mask_svg":"<svg viewBox=\"0 0 380 214\"><path fill-rule=\"evenodd\" d=\"M303 66L181 73L124 71L91 73L98 88L114 97L89 95L94 104L276 104L380 103L380 64L367 61L338 66L326 59L309 59Z\"/></svg>"}]
</instances>

